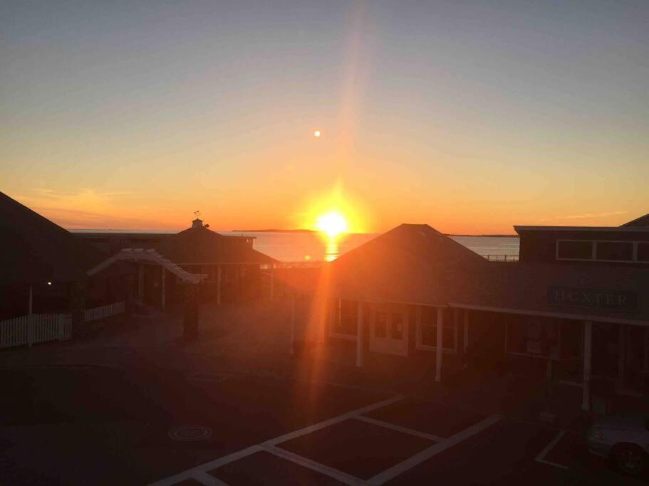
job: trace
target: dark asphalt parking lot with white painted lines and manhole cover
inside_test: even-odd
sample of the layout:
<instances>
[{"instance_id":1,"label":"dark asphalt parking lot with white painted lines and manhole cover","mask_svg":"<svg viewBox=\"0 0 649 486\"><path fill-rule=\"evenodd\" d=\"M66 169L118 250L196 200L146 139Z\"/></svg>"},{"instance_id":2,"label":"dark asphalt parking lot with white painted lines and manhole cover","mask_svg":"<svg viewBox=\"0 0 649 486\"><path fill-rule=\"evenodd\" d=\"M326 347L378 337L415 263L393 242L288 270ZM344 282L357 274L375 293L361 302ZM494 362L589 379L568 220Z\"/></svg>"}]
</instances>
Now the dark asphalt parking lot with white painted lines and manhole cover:
<instances>
[{"instance_id":1,"label":"dark asphalt parking lot with white painted lines and manhole cover","mask_svg":"<svg viewBox=\"0 0 649 486\"><path fill-rule=\"evenodd\" d=\"M2 485L649 483L577 433L347 386L100 366L0 382Z\"/></svg>"}]
</instances>

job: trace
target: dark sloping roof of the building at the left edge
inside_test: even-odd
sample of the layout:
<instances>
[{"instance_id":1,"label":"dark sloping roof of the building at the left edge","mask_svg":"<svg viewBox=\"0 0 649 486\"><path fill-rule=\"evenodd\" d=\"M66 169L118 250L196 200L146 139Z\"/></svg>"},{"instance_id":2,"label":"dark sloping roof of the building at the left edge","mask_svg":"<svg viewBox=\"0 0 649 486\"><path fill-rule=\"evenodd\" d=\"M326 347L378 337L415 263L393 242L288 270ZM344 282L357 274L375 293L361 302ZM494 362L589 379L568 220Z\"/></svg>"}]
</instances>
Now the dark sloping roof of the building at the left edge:
<instances>
[{"instance_id":1,"label":"dark sloping roof of the building at the left edge","mask_svg":"<svg viewBox=\"0 0 649 486\"><path fill-rule=\"evenodd\" d=\"M0 192L0 284L83 280L100 260L90 244Z\"/></svg>"}]
</instances>

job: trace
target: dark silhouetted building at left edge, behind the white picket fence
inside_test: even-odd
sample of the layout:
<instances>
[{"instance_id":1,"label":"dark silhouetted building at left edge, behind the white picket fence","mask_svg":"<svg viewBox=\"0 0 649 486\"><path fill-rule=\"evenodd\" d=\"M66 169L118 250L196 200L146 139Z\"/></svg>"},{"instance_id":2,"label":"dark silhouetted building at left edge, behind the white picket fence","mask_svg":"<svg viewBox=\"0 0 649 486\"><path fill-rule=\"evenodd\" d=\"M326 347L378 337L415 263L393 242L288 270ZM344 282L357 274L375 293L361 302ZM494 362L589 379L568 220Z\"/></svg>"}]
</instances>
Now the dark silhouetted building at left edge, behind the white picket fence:
<instances>
[{"instance_id":1,"label":"dark silhouetted building at left edge, behind the white picket fence","mask_svg":"<svg viewBox=\"0 0 649 486\"><path fill-rule=\"evenodd\" d=\"M86 275L102 259L92 245L0 193L0 320L27 314L30 291L35 313L117 299L124 289L119 269Z\"/></svg>"}]
</instances>

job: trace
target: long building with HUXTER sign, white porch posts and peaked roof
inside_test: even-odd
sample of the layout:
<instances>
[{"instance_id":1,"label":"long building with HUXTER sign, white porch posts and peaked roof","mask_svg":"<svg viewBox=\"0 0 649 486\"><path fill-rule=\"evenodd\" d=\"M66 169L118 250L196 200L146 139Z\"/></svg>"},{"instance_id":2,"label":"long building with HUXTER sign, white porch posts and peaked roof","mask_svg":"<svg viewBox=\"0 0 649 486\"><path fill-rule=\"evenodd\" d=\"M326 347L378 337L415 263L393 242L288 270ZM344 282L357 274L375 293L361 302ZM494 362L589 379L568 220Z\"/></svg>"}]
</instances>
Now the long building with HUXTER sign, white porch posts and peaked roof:
<instances>
[{"instance_id":1,"label":"long building with HUXTER sign, white porch posts and peaked roof","mask_svg":"<svg viewBox=\"0 0 649 486\"><path fill-rule=\"evenodd\" d=\"M341 256L308 290L326 300L326 341L438 381L467 362L551 377L585 409L649 393L649 226L515 228L516 263L406 224Z\"/></svg>"}]
</instances>

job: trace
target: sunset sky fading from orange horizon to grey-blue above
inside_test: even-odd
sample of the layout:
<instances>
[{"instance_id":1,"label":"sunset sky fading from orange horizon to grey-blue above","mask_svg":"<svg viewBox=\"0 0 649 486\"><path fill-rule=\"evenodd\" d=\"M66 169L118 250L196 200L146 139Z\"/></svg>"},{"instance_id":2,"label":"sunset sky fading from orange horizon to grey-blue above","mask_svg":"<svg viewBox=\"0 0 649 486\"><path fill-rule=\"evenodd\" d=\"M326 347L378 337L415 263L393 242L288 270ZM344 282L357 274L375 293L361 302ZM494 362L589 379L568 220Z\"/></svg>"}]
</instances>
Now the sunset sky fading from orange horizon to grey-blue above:
<instances>
[{"instance_id":1,"label":"sunset sky fading from orange horizon to grey-blue above","mask_svg":"<svg viewBox=\"0 0 649 486\"><path fill-rule=\"evenodd\" d=\"M0 191L66 228L618 225L649 212L648 26L646 0L2 1Z\"/></svg>"}]
</instances>

